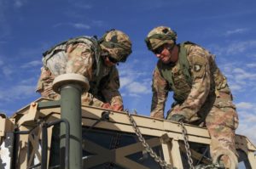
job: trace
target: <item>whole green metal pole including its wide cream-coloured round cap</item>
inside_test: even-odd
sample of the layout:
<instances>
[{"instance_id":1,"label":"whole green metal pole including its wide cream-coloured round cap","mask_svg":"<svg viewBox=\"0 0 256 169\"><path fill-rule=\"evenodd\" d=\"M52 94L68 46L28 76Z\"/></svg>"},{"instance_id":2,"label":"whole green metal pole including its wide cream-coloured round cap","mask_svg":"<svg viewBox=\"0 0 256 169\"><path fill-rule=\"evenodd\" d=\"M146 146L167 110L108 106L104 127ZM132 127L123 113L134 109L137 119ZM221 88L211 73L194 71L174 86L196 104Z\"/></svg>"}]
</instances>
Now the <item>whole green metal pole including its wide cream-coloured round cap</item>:
<instances>
[{"instance_id":1,"label":"whole green metal pole including its wide cream-coloured round cap","mask_svg":"<svg viewBox=\"0 0 256 169\"><path fill-rule=\"evenodd\" d=\"M89 82L79 74L63 74L53 82L53 90L61 94L61 119L70 124L69 166L65 166L66 127L61 123L61 168L82 169L81 94L89 89Z\"/></svg>"}]
</instances>

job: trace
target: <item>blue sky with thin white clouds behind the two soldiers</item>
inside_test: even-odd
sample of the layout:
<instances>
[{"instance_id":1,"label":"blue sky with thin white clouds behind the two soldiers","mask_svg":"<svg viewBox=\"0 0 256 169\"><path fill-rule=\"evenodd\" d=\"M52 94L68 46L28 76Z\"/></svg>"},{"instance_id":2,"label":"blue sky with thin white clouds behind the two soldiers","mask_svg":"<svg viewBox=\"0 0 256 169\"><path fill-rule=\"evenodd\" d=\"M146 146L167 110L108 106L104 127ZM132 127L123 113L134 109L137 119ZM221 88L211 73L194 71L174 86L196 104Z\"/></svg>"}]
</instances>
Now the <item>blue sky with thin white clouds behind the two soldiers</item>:
<instances>
[{"instance_id":1,"label":"blue sky with thin white clouds behind the two soldiers","mask_svg":"<svg viewBox=\"0 0 256 169\"><path fill-rule=\"evenodd\" d=\"M189 40L216 54L239 113L237 133L256 144L255 8L254 0L0 0L0 111L11 115L38 99L42 53L49 47L116 28L133 43L130 58L118 66L125 108L149 115L157 59L143 40L166 25L177 31L177 42Z\"/></svg>"}]
</instances>

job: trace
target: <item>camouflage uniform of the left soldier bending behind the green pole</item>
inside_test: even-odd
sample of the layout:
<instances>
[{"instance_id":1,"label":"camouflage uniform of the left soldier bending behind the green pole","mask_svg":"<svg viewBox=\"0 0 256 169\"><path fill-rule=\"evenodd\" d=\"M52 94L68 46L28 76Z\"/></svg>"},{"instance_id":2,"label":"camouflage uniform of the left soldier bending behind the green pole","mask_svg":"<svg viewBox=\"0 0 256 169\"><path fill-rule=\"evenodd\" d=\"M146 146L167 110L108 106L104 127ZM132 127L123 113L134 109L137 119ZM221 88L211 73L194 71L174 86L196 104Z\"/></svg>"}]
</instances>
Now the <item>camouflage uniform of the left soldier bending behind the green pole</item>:
<instances>
[{"instance_id":1,"label":"camouflage uniform of the left soldier bending behind the green pole","mask_svg":"<svg viewBox=\"0 0 256 169\"><path fill-rule=\"evenodd\" d=\"M52 82L55 76L64 73L83 75L89 80L90 89L95 87L91 82L96 81L96 48L99 48L99 46L95 47L83 38L77 39L77 42L71 41L67 42L65 50L56 50L41 70L37 92L45 98L60 99L60 95L52 90ZM104 102L108 102L117 110L123 110L123 100L119 93L118 70L115 66L108 68L105 65L102 65L101 69L103 72L101 76L103 81L99 85L101 88L94 95L90 92L83 93L82 104L102 107ZM111 71L113 73L109 76Z\"/></svg>"}]
</instances>

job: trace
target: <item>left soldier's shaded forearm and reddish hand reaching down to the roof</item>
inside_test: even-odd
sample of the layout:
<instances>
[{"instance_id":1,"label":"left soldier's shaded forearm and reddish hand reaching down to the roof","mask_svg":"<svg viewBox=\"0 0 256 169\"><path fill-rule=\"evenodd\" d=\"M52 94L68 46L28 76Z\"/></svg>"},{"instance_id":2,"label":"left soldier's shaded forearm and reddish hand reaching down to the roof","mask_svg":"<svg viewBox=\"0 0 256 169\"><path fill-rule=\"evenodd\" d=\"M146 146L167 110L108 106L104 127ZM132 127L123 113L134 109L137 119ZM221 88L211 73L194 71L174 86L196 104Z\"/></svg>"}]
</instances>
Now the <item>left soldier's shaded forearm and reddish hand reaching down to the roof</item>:
<instances>
[{"instance_id":1,"label":"left soldier's shaded forearm and reddish hand reaching down to the roof","mask_svg":"<svg viewBox=\"0 0 256 169\"><path fill-rule=\"evenodd\" d=\"M102 95L107 103L111 104L113 110L124 110L123 99L119 93L119 72L114 66L108 77L108 81L102 87Z\"/></svg>"}]
</instances>

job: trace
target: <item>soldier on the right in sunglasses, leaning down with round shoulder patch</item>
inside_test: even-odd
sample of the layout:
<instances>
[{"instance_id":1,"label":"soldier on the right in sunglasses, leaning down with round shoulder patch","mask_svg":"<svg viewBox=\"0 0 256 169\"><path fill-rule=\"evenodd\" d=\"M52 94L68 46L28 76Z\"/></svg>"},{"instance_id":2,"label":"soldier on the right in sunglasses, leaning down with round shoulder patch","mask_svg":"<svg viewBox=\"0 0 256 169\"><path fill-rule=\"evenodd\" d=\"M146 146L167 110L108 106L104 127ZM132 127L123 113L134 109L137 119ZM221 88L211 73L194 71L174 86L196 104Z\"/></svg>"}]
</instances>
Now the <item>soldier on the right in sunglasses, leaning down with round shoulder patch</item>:
<instances>
[{"instance_id":1,"label":"soldier on the right in sunglasses, leaning down with round shoulder patch","mask_svg":"<svg viewBox=\"0 0 256 169\"><path fill-rule=\"evenodd\" d=\"M212 158L221 156L227 167L232 161L237 165L238 116L226 77L205 48L193 42L177 44L176 40L177 33L166 26L154 28L145 39L159 59L153 74L150 116L164 118L167 95L172 91L174 103L166 119L206 126L212 138Z\"/></svg>"}]
</instances>

